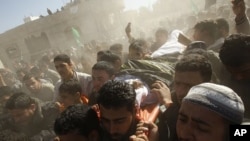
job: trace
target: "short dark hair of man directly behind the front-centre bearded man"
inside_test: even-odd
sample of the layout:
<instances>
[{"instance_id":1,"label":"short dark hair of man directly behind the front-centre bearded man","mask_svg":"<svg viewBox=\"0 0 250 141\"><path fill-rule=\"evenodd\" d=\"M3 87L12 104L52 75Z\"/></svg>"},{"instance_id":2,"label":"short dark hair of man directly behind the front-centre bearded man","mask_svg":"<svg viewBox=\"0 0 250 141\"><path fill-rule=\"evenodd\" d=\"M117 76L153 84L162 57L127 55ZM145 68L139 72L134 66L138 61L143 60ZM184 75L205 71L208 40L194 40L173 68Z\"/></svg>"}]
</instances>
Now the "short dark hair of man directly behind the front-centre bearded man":
<instances>
[{"instance_id":1,"label":"short dark hair of man directly behind the front-centre bearded man","mask_svg":"<svg viewBox=\"0 0 250 141\"><path fill-rule=\"evenodd\" d=\"M115 68L112 64L106 61L99 61L93 67L92 70L104 70L111 77L115 75Z\"/></svg>"}]
</instances>

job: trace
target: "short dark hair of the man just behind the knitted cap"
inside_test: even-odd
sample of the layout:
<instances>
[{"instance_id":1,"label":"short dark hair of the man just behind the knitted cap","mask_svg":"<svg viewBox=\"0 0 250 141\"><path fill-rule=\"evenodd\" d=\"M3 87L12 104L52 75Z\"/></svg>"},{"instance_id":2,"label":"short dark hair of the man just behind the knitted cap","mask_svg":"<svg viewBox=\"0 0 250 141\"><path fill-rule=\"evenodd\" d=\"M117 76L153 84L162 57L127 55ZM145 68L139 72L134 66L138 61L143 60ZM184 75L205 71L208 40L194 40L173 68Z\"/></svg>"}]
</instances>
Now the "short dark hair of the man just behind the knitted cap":
<instances>
[{"instance_id":1,"label":"short dark hair of the man just behind the knitted cap","mask_svg":"<svg viewBox=\"0 0 250 141\"><path fill-rule=\"evenodd\" d=\"M198 71L203 82L209 82L212 77L212 67L208 59L199 54L184 55L175 65L175 72Z\"/></svg>"}]
</instances>

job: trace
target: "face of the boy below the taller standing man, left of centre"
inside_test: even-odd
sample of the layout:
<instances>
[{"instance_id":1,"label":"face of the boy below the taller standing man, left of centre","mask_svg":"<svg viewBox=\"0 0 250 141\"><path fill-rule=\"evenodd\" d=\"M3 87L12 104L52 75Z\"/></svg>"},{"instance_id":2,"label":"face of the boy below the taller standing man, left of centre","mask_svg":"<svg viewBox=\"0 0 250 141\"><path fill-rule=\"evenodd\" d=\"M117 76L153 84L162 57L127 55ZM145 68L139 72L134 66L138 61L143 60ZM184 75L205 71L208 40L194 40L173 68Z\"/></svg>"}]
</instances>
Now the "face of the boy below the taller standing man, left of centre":
<instances>
[{"instance_id":1,"label":"face of the boy below the taller standing man, left of centre","mask_svg":"<svg viewBox=\"0 0 250 141\"><path fill-rule=\"evenodd\" d=\"M63 105L64 108L67 108L74 104L78 104L81 98L80 93L69 94L66 92L60 92L59 97L60 97L60 103Z\"/></svg>"}]
</instances>

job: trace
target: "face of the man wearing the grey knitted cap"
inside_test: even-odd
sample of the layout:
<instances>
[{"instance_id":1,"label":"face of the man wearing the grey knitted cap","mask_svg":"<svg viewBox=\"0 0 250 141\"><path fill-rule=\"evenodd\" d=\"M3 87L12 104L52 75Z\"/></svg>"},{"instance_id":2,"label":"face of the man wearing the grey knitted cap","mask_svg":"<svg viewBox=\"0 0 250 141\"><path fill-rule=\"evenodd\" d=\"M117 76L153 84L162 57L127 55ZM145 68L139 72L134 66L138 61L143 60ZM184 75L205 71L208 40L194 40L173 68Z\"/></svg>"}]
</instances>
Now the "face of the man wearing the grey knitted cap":
<instances>
[{"instance_id":1,"label":"face of the man wearing the grey knitted cap","mask_svg":"<svg viewBox=\"0 0 250 141\"><path fill-rule=\"evenodd\" d=\"M224 141L229 123L203 106L184 101L176 124L179 140Z\"/></svg>"}]
</instances>

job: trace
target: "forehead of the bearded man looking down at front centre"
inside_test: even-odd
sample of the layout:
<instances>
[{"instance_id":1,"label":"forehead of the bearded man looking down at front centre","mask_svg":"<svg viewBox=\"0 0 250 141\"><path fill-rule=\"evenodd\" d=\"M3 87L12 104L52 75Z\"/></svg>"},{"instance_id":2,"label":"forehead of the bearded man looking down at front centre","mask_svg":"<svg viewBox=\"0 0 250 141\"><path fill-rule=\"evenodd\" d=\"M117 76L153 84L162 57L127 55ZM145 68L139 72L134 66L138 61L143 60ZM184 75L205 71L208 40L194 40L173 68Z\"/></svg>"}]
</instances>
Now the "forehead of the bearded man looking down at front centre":
<instances>
[{"instance_id":1,"label":"forehead of the bearded man looking down at front centre","mask_svg":"<svg viewBox=\"0 0 250 141\"><path fill-rule=\"evenodd\" d=\"M121 108L110 108L107 109L105 107L103 107L102 105L100 105L100 113L101 113L101 117L108 119L108 120L116 120L116 119L120 119L123 117L128 117L128 116L132 116L132 113L130 111L128 111L127 107L121 107Z\"/></svg>"}]
</instances>

